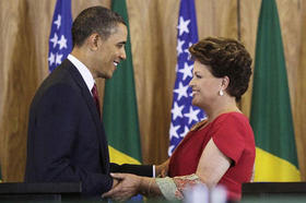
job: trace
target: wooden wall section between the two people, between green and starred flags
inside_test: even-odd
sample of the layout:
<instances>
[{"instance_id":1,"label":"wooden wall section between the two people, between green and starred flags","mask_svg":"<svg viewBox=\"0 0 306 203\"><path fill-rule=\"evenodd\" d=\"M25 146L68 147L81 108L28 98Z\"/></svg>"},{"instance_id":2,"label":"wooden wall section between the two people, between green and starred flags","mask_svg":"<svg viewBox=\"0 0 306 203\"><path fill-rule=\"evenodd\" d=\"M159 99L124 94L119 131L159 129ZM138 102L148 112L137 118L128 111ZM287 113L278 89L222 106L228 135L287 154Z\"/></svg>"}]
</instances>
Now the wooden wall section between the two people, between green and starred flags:
<instances>
[{"instance_id":1,"label":"wooden wall section between the two people, between green and starred flags","mask_svg":"<svg viewBox=\"0 0 306 203\"><path fill-rule=\"evenodd\" d=\"M128 1L144 163L167 158L178 1ZM156 150L158 148L158 150Z\"/></svg>"}]
</instances>

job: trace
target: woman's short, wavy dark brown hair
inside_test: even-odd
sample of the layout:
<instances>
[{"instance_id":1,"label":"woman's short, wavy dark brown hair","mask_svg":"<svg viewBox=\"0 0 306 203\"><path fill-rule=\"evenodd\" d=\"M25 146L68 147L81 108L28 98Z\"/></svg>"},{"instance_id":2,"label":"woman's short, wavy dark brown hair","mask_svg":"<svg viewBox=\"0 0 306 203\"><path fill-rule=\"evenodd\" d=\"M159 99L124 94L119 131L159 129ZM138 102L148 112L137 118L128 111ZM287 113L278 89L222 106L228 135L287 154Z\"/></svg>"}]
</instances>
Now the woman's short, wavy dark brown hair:
<instances>
[{"instance_id":1,"label":"woman's short, wavy dark brown hair","mask_svg":"<svg viewBox=\"0 0 306 203\"><path fill-rule=\"evenodd\" d=\"M229 38L208 37L192 45L189 51L193 60L209 65L214 76L228 76L226 92L236 100L242 98L248 88L252 61L243 44Z\"/></svg>"}]
</instances>

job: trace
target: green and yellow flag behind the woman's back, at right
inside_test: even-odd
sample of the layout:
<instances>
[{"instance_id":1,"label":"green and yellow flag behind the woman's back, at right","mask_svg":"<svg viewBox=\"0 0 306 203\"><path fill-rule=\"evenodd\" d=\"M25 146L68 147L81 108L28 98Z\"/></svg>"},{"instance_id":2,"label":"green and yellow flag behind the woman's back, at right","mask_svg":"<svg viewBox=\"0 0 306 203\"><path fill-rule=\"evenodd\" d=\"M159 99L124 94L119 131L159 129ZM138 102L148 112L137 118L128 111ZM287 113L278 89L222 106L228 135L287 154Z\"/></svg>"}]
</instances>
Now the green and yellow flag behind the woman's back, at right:
<instances>
[{"instance_id":1,"label":"green and yellow flag behind the woman's back, at right","mask_svg":"<svg viewBox=\"0 0 306 203\"><path fill-rule=\"evenodd\" d=\"M299 181L282 34L274 0L262 0L258 23L250 123L255 181Z\"/></svg>"}]
</instances>

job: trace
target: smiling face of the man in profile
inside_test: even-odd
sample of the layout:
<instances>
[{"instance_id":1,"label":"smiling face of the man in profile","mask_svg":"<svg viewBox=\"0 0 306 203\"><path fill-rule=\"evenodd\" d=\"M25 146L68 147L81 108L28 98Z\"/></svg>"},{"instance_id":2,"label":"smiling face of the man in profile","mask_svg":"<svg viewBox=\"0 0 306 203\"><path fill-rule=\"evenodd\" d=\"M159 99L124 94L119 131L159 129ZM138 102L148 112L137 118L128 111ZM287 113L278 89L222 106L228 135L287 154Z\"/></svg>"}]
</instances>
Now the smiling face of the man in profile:
<instances>
[{"instance_id":1,"label":"smiling face of the man in profile","mask_svg":"<svg viewBox=\"0 0 306 203\"><path fill-rule=\"evenodd\" d=\"M127 58L125 45L128 31L126 25L118 24L106 40L98 39L94 71L97 77L110 79L118 63Z\"/></svg>"}]
</instances>

